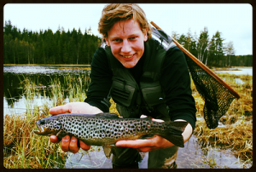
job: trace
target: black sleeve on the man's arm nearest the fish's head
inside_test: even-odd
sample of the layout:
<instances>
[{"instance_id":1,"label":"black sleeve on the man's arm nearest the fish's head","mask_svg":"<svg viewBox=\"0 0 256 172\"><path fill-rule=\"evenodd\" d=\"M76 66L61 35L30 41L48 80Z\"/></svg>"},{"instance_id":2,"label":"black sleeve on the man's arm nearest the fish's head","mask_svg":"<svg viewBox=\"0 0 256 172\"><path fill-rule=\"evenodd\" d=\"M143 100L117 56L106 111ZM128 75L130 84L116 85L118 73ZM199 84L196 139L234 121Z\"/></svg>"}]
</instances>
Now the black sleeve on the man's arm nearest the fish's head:
<instances>
[{"instance_id":1,"label":"black sleeve on the man's arm nearest the fish's head","mask_svg":"<svg viewBox=\"0 0 256 172\"><path fill-rule=\"evenodd\" d=\"M90 68L90 84L84 102L98 107L102 112L109 112L110 103L107 98L112 84L112 71L108 66L108 57L104 49L96 50Z\"/></svg>"}]
</instances>

